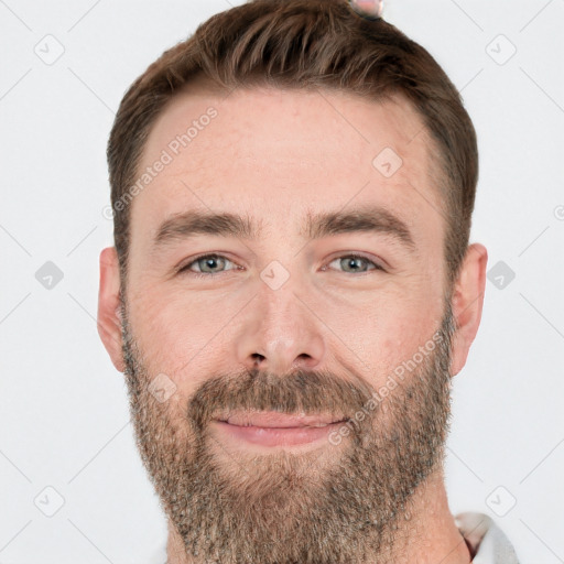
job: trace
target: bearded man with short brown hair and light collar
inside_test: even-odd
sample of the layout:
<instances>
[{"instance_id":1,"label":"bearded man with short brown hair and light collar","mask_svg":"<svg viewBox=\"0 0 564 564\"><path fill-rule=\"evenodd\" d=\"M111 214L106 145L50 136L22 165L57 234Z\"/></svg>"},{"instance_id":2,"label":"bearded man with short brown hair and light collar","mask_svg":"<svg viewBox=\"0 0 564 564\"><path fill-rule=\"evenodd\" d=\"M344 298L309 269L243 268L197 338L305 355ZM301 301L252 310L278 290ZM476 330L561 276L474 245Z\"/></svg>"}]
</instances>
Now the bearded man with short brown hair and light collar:
<instances>
[{"instance_id":1,"label":"bearded man with short brown hair and light collar","mask_svg":"<svg viewBox=\"0 0 564 564\"><path fill-rule=\"evenodd\" d=\"M170 564L517 562L443 476L477 159L437 63L344 0L217 14L131 86L99 330Z\"/></svg>"}]
</instances>

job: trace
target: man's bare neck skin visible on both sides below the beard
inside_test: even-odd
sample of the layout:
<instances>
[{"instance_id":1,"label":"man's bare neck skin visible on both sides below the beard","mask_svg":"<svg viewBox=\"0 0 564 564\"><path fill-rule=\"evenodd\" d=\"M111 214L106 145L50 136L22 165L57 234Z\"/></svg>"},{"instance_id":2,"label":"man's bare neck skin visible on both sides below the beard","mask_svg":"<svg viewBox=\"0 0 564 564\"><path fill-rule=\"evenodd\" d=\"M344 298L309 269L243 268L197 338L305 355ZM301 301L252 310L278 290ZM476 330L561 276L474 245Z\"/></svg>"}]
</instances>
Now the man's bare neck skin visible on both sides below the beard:
<instances>
[{"instance_id":1,"label":"man's bare neck skin visible on both sides below the beard","mask_svg":"<svg viewBox=\"0 0 564 564\"><path fill-rule=\"evenodd\" d=\"M411 506L412 517L398 523L393 546L388 552L375 555L373 562L379 564L436 564L437 562L468 564L470 562L464 538L448 509L441 469L431 474L416 489L411 499ZM171 521L169 521L166 555L169 564L206 562L205 556L196 557L186 554L184 543Z\"/></svg>"}]
</instances>

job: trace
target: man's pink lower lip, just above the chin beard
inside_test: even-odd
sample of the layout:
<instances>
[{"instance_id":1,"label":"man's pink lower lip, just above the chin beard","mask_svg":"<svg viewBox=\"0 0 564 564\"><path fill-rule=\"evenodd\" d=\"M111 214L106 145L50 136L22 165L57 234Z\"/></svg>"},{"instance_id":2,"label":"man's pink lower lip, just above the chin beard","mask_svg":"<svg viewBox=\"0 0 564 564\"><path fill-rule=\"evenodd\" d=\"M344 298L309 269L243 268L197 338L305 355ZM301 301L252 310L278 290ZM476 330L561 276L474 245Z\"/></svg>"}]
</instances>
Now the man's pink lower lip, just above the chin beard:
<instances>
[{"instance_id":1,"label":"man's pink lower lip, just above the chin beard","mask_svg":"<svg viewBox=\"0 0 564 564\"><path fill-rule=\"evenodd\" d=\"M225 421L215 421L223 433L247 443L260 446L294 446L314 443L327 438L327 435L343 425L330 423L323 427L256 427L230 425Z\"/></svg>"}]
</instances>

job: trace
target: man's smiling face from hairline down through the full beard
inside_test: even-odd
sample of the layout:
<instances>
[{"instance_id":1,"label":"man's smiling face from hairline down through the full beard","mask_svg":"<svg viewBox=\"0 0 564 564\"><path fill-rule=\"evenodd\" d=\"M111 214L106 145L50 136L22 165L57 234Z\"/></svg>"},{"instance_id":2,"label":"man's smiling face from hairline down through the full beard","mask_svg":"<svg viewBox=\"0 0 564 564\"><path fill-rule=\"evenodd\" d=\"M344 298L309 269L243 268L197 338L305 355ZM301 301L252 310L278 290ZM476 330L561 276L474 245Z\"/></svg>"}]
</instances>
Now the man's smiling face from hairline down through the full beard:
<instances>
[{"instance_id":1,"label":"man's smiling face from hairline down through the full beard","mask_svg":"<svg viewBox=\"0 0 564 564\"><path fill-rule=\"evenodd\" d=\"M132 203L124 362L191 554L377 554L436 469L452 317L422 127L401 100L239 89L177 97L152 129L140 173L172 159Z\"/></svg>"}]
</instances>

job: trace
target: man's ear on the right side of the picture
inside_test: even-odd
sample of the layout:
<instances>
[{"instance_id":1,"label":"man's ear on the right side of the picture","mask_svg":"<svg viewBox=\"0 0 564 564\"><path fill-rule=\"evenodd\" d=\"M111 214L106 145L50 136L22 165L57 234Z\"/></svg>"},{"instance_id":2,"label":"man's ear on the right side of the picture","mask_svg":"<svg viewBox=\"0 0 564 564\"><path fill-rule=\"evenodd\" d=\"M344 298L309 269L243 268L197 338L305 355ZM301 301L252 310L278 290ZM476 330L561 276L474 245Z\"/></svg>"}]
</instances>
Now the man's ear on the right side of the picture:
<instances>
[{"instance_id":1,"label":"man's ear on the right side of the picture","mask_svg":"<svg viewBox=\"0 0 564 564\"><path fill-rule=\"evenodd\" d=\"M453 289L453 315L456 333L453 335L451 375L457 375L466 364L468 350L481 319L488 251L484 245L473 243L466 250L458 278Z\"/></svg>"}]
</instances>

